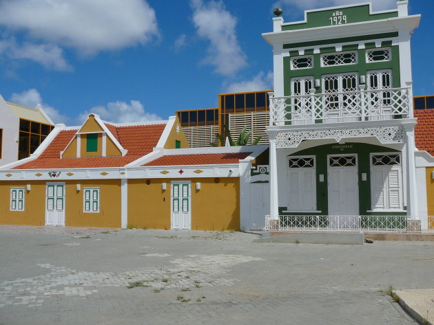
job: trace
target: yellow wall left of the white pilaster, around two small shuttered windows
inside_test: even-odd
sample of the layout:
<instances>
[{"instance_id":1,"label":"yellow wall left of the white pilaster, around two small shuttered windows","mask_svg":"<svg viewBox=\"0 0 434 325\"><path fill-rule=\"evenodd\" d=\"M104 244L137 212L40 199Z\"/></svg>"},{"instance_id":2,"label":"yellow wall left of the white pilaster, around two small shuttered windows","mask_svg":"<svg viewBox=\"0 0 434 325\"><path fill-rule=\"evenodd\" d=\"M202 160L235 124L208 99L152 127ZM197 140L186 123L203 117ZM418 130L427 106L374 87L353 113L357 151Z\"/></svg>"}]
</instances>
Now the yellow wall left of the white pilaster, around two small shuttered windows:
<instances>
[{"instance_id":1,"label":"yellow wall left of the white pilaster, around two small shuttered windows","mask_svg":"<svg viewBox=\"0 0 434 325\"><path fill-rule=\"evenodd\" d=\"M63 183L63 181L57 181ZM45 225L45 186L49 181L2 181L0 185L0 224ZM55 183L53 181L52 183ZM77 180L65 181L65 225L71 227L121 227L121 180ZM81 190L76 190L76 184ZM25 211L10 211L10 188L24 187ZM99 213L83 212L85 187L100 188ZM3 204L3 202L5 204Z\"/></svg>"}]
</instances>

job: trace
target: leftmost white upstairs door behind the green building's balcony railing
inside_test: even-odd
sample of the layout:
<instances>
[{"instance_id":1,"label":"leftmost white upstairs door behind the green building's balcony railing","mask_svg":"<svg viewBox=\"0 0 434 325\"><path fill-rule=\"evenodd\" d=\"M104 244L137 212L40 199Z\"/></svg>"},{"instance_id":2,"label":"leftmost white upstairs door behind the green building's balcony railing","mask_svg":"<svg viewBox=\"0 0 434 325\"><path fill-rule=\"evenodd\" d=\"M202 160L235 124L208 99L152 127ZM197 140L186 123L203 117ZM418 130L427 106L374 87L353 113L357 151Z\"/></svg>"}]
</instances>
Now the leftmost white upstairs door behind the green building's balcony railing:
<instances>
[{"instance_id":1,"label":"leftmost white upstairs door behind the green building's balcony railing","mask_svg":"<svg viewBox=\"0 0 434 325\"><path fill-rule=\"evenodd\" d=\"M311 98L309 90L313 87L313 77L297 77L291 79L291 96L300 96L292 99L292 124L311 123Z\"/></svg>"}]
</instances>

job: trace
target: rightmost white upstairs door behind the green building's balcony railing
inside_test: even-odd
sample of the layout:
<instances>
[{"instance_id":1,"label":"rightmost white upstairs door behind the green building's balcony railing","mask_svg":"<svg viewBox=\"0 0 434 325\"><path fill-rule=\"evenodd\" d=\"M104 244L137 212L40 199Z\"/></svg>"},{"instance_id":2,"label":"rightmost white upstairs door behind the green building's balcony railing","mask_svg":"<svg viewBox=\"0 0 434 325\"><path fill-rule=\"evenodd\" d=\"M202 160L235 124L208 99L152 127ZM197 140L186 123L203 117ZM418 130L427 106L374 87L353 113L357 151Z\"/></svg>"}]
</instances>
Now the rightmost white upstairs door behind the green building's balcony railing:
<instances>
[{"instance_id":1,"label":"rightmost white upstairs door behind the green building's balcony railing","mask_svg":"<svg viewBox=\"0 0 434 325\"><path fill-rule=\"evenodd\" d=\"M368 72L367 114L370 120L391 120L393 107L391 101L392 71L378 70Z\"/></svg>"}]
</instances>

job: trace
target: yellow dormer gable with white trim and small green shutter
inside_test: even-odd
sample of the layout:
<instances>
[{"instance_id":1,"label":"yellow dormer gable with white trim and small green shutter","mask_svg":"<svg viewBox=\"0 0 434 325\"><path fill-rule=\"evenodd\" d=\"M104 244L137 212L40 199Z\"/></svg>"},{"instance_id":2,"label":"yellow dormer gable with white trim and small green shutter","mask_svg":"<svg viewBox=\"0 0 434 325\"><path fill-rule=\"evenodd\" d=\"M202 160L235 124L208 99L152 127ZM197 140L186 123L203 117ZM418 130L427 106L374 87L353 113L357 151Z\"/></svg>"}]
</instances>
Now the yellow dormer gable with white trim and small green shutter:
<instances>
[{"instance_id":1,"label":"yellow dormer gable with white trim and small green shutter","mask_svg":"<svg viewBox=\"0 0 434 325\"><path fill-rule=\"evenodd\" d=\"M123 157L125 154L126 150L118 142L116 126L105 124L98 115L90 114L61 152L61 158Z\"/></svg>"}]
</instances>

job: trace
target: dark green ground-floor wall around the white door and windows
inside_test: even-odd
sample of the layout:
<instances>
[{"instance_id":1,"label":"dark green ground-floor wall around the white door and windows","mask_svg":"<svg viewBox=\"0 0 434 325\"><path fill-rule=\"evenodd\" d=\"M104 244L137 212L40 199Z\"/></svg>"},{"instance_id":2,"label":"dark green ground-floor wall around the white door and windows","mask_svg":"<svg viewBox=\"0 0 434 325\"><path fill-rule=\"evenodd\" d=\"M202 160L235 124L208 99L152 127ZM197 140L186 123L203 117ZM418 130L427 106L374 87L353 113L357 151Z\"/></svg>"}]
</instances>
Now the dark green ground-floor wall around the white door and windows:
<instances>
[{"instance_id":1,"label":"dark green ground-floor wall around the white door and windows","mask_svg":"<svg viewBox=\"0 0 434 325\"><path fill-rule=\"evenodd\" d=\"M328 190L327 190L327 155L346 155L357 154L358 161L358 182L359 182L359 213L360 215L390 215L390 213L371 213L366 210L371 210L371 166L369 164L370 153L391 153L399 152L391 148L375 146L373 144L360 144L346 142L345 147L339 144L324 144L293 153L290 156L315 156L316 157L316 210L321 211L321 215L328 214ZM349 148L351 146L351 148ZM366 172L366 181L362 181L362 172ZM324 181L320 182L320 174L324 175ZM286 179L283 179L286 181ZM405 207L404 207L405 208ZM280 214L300 214L300 213L285 213L287 207L279 207ZM309 214L309 213L305 213ZM311 213L318 214L318 213ZM396 215L394 213L393 215ZM400 213L398 213L400 215ZM404 214L403 214L404 215Z\"/></svg>"}]
</instances>

